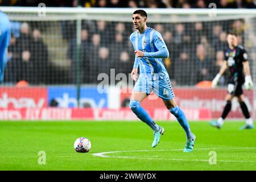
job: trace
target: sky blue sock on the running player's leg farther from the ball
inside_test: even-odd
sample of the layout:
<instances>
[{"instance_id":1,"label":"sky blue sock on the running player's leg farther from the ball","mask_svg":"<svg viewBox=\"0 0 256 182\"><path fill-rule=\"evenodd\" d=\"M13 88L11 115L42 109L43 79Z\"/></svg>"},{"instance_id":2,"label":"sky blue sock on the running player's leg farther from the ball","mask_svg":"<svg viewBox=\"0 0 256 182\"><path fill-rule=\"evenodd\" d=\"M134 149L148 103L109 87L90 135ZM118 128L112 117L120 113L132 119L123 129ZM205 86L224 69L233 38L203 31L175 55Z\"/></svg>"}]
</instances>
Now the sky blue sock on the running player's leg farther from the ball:
<instances>
[{"instance_id":1,"label":"sky blue sock on the running player's leg farther from the ball","mask_svg":"<svg viewBox=\"0 0 256 182\"><path fill-rule=\"evenodd\" d=\"M189 124L188 124L188 121L187 121L187 118L186 118L184 112L180 109L179 106L172 107L169 110L172 114L174 114L174 116L177 118L177 121L179 121L180 125L185 130L187 139L191 140L193 138L193 135L190 131Z\"/></svg>"}]
</instances>

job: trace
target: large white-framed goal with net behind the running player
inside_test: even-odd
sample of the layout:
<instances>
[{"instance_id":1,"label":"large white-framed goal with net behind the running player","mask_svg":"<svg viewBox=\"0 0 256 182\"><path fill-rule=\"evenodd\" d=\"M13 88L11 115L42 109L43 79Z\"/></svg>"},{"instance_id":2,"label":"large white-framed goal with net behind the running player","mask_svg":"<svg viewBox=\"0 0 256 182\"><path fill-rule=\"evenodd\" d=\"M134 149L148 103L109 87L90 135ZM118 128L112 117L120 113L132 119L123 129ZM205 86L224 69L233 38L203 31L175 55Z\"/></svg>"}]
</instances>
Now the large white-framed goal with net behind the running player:
<instances>
[{"instance_id":1,"label":"large white-framed goal with net behind the running player","mask_svg":"<svg viewBox=\"0 0 256 182\"><path fill-rule=\"evenodd\" d=\"M1 118L10 119L4 116L6 110L9 111L6 115L11 115L10 110L15 109L79 107L95 109L97 112L92 113L98 113L98 117L112 119L113 112L104 115L99 114L98 109L118 109L120 113L129 107L134 85L129 80L134 64L134 49L129 40L135 31L131 19L134 9L47 7L43 13L38 8L25 7L0 7L0 10L9 15L12 33L5 81L0 88ZM217 89L210 88L210 81L223 63L228 31L236 32L239 44L246 48L256 84L255 12L146 11L147 26L162 34L170 51L163 63L176 101L189 119L218 118L225 106L226 75L221 77ZM106 85L110 85L108 92L99 92L101 73L109 76L108 81L105 80ZM118 73L123 73L122 79ZM117 87L121 92L117 92ZM253 90L244 90L245 102L254 119L255 92L255 86ZM160 99L148 98L142 105L156 119L171 117ZM33 113L36 115L36 111ZM65 114L67 112L61 117L65 118ZM131 116L126 113L122 117ZM234 118L243 118L236 99L228 115L228 119Z\"/></svg>"}]
</instances>

